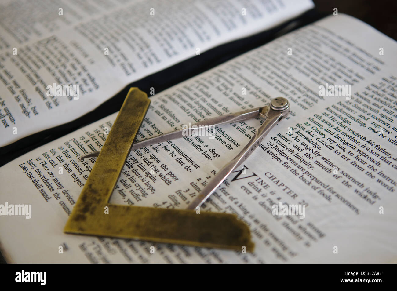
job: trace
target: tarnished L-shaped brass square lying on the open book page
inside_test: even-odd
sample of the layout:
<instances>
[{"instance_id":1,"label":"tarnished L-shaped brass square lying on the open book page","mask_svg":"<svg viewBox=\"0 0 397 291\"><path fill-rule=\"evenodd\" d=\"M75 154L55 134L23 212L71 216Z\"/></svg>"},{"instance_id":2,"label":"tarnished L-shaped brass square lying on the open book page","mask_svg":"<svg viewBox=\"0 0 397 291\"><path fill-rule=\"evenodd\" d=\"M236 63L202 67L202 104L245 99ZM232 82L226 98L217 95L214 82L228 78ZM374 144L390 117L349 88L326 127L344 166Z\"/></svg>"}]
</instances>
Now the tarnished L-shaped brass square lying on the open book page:
<instances>
[{"instance_id":1,"label":"tarnished L-shaped brass square lying on the open book page","mask_svg":"<svg viewBox=\"0 0 397 291\"><path fill-rule=\"evenodd\" d=\"M249 227L233 214L109 204L149 104L144 92L129 90L64 231L253 251Z\"/></svg>"}]
</instances>

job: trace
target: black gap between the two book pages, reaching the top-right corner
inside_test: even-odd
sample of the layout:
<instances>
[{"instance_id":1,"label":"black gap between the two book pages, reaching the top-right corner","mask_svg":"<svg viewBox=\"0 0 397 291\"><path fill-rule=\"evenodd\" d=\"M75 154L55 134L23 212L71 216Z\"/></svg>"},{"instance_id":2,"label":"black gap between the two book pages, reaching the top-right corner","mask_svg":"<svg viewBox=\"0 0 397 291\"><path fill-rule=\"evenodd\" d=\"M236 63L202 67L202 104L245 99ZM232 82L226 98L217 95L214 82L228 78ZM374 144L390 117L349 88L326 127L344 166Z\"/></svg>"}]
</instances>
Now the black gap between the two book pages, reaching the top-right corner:
<instances>
[{"instance_id":1,"label":"black gap between the two book pages, reaching the top-right corner","mask_svg":"<svg viewBox=\"0 0 397 291\"><path fill-rule=\"evenodd\" d=\"M12 145L0 148L0 166L54 139L58 139L80 127L84 127L98 119L117 112L123 103L129 87L139 87L139 89L148 93L148 96L150 96L150 87L154 87L156 93L159 93L168 87L202 73L235 56L261 46L291 31L291 27L297 29L308 23L331 15L334 8L338 9L338 13L354 16L392 39L397 40L397 0L313 0L313 2L315 4L313 10L304 13L292 21L283 23L270 31L218 46L202 53L200 57L191 58L144 79L133 82L126 86L120 93L116 94L116 96L79 119L25 137ZM368 41L371 40L368 39ZM0 262L5 262L1 254Z\"/></svg>"}]
</instances>

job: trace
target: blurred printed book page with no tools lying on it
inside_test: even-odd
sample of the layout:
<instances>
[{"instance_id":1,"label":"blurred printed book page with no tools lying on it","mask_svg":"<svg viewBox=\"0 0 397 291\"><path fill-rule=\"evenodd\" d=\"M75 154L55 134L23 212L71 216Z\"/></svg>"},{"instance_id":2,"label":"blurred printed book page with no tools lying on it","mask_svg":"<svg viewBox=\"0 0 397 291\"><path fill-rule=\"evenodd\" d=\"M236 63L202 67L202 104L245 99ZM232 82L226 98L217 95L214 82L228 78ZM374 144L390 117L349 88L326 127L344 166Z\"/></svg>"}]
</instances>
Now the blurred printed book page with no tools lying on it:
<instances>
[{"instance_id":1,"label":"blurred printed book page with no tools lying on it","mask_svg":"<svg viewBox=\"0 0 397 291\"><path fill-rule=\"evenodd\" d=\"M312 6L311 0L2 4L0 146L76 119L133 81Z\"/></svg>"}]
</instances>

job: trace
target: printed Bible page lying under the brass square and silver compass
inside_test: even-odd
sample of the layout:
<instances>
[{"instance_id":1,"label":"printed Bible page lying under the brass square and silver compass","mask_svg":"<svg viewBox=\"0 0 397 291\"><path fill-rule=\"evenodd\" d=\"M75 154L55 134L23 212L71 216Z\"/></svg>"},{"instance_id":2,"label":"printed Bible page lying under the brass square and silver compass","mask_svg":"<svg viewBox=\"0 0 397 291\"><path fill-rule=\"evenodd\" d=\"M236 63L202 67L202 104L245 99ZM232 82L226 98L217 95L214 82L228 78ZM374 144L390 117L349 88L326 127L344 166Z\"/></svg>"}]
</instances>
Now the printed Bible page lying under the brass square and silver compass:
<instances>
[{"instance_id":1,"label":"printed Bible page lying under the brass square and silver compass","mask_svg":"<svg viewBox=\"0 0 397 291\"><path fill-rule=\"evenodd\" d=\"M92 263L395 260L396 52L394 40L339 14L152 97L138 140L189 122L264 106L276 96L289 99L289 116L201 206L201 211L233 213L247 223L254 253L62 232L95 162L95 158L82 162L78 158L100 150L115 113L0 168L1 203L31 205L30 218L26 214L0 218L6 259ZM351 89L335 96L333 85L351 85ZM251 119L225 124L216 127L212 139L187 136L132 151L110 202L187 208L260 123ZM274 213L279 203L304 205L305 211Z\"/></svg>"}]
</instances>

